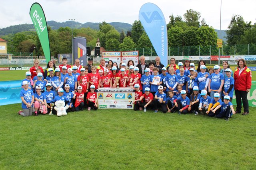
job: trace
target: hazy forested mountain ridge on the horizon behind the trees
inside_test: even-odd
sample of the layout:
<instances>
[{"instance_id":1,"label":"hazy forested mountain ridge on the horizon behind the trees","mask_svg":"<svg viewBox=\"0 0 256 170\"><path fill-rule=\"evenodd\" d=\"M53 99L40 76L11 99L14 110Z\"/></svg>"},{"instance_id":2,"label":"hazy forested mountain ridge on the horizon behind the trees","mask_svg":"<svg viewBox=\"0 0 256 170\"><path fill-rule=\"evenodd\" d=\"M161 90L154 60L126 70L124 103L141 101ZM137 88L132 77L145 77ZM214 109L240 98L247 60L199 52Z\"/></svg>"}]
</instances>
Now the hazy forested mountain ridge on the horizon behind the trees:
<instances>
[{"instance_id":1,"label":"hazy forested mountain ridge on the horizon behind the trees","mask_svg":"<svg viewBox=\"0 0 256 170\"><path fill-rule=\"evenodd\" d=\"M73 28L86 28L90 27L92 29L99 29L99 24L97 22L86 22L86 23L80 23L73 21ZM115 29L119 32L124 30L124 33L127 31L132 30L132 25L129 23L123 23L123 22L110 22L110 25L115 27ZM47 25L50 26L52 29L59 29L60 27L72 27L72 21L66 21L66 22L56 22L56 21L47 21ZM14 34L22 31L35 31L33 24L20 24L20 25L12 25L6 28L0 29L0 36L1 35L7 35L7 34ZM223 39L223 41L226 41L226 30L218 30L215 29L215 31L218 34L218 37L220 39Z\"/></svg>"}]
</instances>

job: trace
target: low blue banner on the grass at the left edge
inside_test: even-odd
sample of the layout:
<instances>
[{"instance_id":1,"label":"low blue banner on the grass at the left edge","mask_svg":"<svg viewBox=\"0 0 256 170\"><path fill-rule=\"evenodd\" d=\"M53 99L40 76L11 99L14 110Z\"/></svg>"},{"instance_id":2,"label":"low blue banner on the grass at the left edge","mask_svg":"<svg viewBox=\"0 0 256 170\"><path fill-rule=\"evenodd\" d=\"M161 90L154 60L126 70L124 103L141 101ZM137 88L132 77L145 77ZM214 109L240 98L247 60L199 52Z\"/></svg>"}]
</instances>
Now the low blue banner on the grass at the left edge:
<instances>
[{"instance_id":1,"label":"low blue banner on the grass at the left edge","mask_svg":"<svg viewBox=\"0 0 256 170\"><path fill-rule=\"evenodd\" d=\"M22 80L0 82L0 106L21 103Z\"/></svg>"}]
</instances>

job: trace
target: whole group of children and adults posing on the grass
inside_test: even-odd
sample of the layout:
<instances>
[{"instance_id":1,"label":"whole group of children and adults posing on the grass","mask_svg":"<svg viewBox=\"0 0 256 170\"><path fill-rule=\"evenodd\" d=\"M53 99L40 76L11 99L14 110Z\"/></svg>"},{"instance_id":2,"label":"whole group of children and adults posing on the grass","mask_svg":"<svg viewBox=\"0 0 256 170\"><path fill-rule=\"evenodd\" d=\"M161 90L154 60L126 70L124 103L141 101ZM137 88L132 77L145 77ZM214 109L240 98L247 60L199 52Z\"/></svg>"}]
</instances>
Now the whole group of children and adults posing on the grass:
<instances>
[{"instance_id":1,"label":"whole group of children and adults posing on the grass","mask_svg":"<svg viewBox=\"0 0 256 170\"><path fill-rule=\"evenodd\" d=\"M35 60L30 72L26 72L20 95L24 115L32 114L24 109L32 108L33 103L35 114L41 107L45 109L40 112L45 114L50 110L49 104L57 100L64 100L69 105L68 111L79 111L84 107L97 109L95 91L100 87L116 88L118 85L136 91L134 110L153 109L158 112L161 108L163 113L178 111L179 114L192 112L196 115L201 112L228 120L232 113L241 113L243 102L243 115L249 113L247 93L251 88L251 71L244 59L238 61L234 73L226 61L222 69L215 65L209 70L204 60L199 61L197 69L189 60L176 64L174 58L164 67L160 57L147 64L144 56L136 66L132 60L127 64L121 62L119 67L111 60L106 64L104 59L97 67L92 65L92 59L88 59L86 66L81 66L78 59L74 66L68 65L66 58L62 62L56 68L54 62L49 61L43 71L39 61ZM232 106L234 90L236 111Z\"/></svg>"}]
</instances>

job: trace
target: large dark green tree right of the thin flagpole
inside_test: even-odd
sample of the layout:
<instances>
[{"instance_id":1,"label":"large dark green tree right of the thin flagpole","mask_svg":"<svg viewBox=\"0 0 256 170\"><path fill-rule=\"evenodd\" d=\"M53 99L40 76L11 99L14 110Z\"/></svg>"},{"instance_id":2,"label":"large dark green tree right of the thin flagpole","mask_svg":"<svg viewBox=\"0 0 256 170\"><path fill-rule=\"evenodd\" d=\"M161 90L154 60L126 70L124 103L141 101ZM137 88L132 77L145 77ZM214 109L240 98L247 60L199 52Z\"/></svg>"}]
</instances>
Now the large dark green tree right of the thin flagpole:
<instances>
[{"instance_id":1,"label":"large dark green tree right of the thin flagpole","mask_svg":"<svg viewBox=\"0 0 256 170\"><path fill-rule=\"evenodd\" d=\"M242 16L232 16L230 24L228 25L229 30L226 31L227 43L230 45L239 44L241 36L251 27L251 22L245 23Z\"/></svg>"}]
</instances>

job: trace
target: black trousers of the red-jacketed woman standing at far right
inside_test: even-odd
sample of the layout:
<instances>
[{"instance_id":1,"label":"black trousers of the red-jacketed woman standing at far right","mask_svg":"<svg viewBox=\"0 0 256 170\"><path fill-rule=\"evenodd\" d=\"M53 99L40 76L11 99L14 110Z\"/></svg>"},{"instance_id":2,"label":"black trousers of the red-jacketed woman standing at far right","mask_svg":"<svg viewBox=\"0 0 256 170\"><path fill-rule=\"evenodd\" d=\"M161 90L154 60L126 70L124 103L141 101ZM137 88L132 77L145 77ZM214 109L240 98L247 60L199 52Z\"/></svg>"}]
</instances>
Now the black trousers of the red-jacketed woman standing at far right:
<instances>
[{"instance_id":1,"label":"black trousers of the red-jacketed woman standing at far right","mask_svg":"<svg viewBox=\"0 0 256 170\"><path fill-rule=\"evenodd\" d=\"M241 90L235 90L235 94L236 94L236 111L241 112L242 102L243 102L244 112L249 113L249 103L248 103L248 100L247 100L248 92L241 91Z\"/></svg>"}]
</instances>

